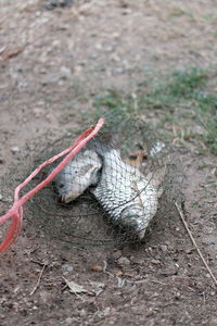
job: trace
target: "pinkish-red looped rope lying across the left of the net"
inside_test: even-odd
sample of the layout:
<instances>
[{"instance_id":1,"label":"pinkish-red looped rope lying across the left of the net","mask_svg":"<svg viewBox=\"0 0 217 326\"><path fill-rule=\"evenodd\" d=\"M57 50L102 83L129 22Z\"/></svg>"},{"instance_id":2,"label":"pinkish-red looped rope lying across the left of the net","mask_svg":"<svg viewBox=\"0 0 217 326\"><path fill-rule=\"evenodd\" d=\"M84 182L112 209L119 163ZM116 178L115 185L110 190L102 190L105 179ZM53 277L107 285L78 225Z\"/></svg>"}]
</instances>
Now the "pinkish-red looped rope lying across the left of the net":
<instances>
[{"instance_id":1,"label":"pinkish-red looped rope lying across the left of the net","mask_svg":"<svg viewBox=\"0 0 217 326\"><path fill-rule=\"evenodd\" d=\"M97 135L103 124L104 118L101 117L95 126L92 126L84 131L69 148L40 164L21 185L15 188L13 206L4 215L0 216L0 224L3 224L7 220L12 218L9 230L2 243L0 243L0 252L5 251L12 243L14 243L21 233L23 222L23 205L40 189L46 187L56 176L56 174L60 173L60 171L86 146L86 143ZM23 189L41 171L42 167L53 163L65 154L67 155L44 180L42 180L39 185L20 199L18 193L21 189Z\"/></svg>"}]
</instances>

